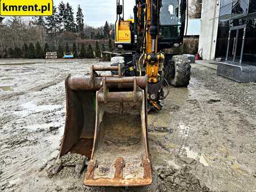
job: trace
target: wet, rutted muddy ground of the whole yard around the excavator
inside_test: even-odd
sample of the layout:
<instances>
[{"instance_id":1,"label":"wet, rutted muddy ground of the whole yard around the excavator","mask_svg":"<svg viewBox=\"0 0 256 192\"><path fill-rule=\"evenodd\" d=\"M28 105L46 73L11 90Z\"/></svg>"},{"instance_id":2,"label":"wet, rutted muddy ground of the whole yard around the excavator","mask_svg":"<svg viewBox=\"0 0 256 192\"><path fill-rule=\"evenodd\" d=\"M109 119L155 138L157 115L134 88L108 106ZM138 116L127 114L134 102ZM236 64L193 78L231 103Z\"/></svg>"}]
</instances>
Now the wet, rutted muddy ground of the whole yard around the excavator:
<instances>
[{"instance_id":1,"label":"wet, rutted muddy ground of the whole yard around the excavator","mask_svg":"<svg viewBox=\"0 0 256 192\"><path fill-rule=\"evenodd\" d=\"M49 174L64 131L64 78L92 63L0 60L1 191L256 191L256 84L198 64L188 88L171 87L164 109L149 115L151 186L85 187L75 161Z\"/></svg>"}]
</instances>

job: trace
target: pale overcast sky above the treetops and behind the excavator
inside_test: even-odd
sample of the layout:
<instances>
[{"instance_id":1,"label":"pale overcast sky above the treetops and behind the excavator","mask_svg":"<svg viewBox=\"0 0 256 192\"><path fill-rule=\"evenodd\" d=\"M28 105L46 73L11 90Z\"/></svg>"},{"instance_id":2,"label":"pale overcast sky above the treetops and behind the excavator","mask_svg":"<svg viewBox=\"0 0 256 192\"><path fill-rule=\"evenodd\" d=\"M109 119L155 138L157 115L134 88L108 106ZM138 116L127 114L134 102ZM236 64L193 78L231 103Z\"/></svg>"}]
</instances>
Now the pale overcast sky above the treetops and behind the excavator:
<instances>
[{"instance_id":1,"label":"pale overcast sky above the treetops and behind the excavator","mask_svg":"<svg viewBox=\"0 0 256 192\"><path fill-rule=\"evenodd\" d=\"M53 0L53 4L57 7L61 0ZM100 27L105 24L106 20L114 23L116 20L116 0L63 0L64 3L69 2L72 5L73 11L77 11L77 6L80 5L82 13L85 16L85 24L93 27ZM133 14L135 0L125 0L125 18L127 19Z\"/></svg>"}]
</instances>

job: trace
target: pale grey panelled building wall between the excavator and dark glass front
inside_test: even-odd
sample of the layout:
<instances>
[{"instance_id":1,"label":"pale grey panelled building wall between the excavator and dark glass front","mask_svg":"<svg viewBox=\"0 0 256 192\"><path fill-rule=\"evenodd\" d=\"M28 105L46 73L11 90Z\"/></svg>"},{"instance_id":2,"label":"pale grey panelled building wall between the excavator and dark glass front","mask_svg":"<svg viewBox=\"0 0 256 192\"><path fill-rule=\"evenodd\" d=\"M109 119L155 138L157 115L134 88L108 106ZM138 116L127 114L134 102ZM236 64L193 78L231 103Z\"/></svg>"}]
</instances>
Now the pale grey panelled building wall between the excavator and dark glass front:
<instances>
[{"instance_id":1,"label":"pale grey panelled building wall between the excavator and dark glass front","mask_svg":"<svg viewBox=\"0 0 256 192\"><path fill-rule=\"evenodd\" d=\"M199 54L204 60L215 59L219 15L219 0L203 0Z\"/></svg>"}]
</instances>

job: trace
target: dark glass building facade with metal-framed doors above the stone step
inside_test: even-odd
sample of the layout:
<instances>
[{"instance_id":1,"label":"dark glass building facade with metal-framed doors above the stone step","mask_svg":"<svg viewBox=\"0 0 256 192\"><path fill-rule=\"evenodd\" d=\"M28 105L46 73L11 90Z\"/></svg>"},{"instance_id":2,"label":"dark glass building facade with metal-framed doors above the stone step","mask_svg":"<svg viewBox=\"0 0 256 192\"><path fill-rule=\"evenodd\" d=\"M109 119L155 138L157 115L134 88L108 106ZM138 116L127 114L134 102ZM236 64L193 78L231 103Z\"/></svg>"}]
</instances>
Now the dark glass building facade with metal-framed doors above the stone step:
<instances>
[{"instance_id":1,"label":"dark glass building facade with metal-framed doors above the stone step","mask_svg":"<svg viewBox=\"0 0 256 192\"><path fill-rule=\"evenodd\" d=\"M256 65L256 0L221 0L216 57Z\"/></svg>"}]
</instances>

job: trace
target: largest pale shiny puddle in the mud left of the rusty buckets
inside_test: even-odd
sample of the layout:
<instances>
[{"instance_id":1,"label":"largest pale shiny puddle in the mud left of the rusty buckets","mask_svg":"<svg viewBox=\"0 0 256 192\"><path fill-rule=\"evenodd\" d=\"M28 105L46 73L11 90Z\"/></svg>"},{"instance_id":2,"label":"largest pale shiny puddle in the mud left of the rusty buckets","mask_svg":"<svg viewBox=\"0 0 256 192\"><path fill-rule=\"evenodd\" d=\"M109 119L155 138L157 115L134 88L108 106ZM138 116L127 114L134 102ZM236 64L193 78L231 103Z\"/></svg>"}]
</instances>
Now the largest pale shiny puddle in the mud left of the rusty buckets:
<instances>
[{"instance_id":1,"label":"largest pale shiny puddle in the mud left of the rusty buckets","mask_svg":"<svg viewBox=\"0 0 256 192\"><path fill-rule=\"evenodd\" d=\"M61 108L61 105L36 105L33 101L27 102L27 103L23 103L22 105L20 105L23 110L22 111L15 111L15 114L21 115L21 116L27 116L30 114L35 114L38 112L42 112L42 111L52 111L55 110L56 108Z\"/></svg>"}]
</instances>

